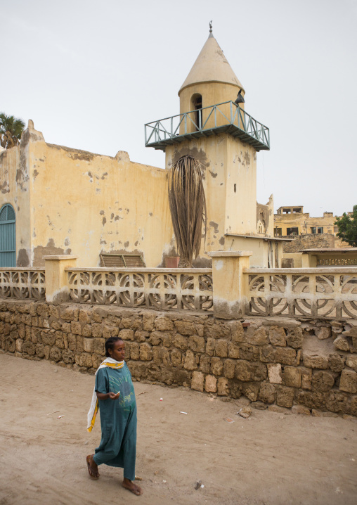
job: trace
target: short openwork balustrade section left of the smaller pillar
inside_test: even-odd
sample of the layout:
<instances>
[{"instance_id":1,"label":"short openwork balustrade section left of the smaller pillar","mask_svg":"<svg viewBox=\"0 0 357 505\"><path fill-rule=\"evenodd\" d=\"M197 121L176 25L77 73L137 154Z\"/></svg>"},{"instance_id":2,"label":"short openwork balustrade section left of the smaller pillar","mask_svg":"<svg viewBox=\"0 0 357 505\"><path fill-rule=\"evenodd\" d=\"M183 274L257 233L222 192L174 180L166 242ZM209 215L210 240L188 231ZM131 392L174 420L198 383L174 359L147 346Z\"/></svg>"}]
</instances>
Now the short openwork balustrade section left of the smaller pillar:
<instances>
[{"instance_id":1,"label":"short openwork balustrade section left of the smaller pillar","mask_svg":"<svg viewBox=\"0 0 357 505\"><path fill-rule=\"evenodd\" d=\"M27 268L0 268L0 298L45 300L45 271Z\"/></svg>"}]
</instances>

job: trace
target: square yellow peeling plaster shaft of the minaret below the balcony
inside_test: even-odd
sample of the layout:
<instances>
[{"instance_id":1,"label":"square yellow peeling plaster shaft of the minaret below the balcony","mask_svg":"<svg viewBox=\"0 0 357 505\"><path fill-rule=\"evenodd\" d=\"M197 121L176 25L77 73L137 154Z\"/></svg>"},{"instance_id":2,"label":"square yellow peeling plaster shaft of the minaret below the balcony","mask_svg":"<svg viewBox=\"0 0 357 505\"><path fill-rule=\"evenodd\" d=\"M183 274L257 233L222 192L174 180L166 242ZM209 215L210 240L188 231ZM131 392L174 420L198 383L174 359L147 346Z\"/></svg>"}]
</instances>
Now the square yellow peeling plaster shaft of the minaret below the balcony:
<instances>
[{"instance_id":1,"label":"square yellow peeling plaster shaft of the minaret below the balcony","mask_svg":"<svg viewBox=\"0 0 357 505\"><path fill-rule=\"evenodd\" d=\"M207 203L207 238L201 256L226 250L225 234L257 234L257 161L251 146L228 134L167 146L166 167L193 155L202 164ZM243 249L249 249L244 246Z\"/></svg>"}]
</instances>

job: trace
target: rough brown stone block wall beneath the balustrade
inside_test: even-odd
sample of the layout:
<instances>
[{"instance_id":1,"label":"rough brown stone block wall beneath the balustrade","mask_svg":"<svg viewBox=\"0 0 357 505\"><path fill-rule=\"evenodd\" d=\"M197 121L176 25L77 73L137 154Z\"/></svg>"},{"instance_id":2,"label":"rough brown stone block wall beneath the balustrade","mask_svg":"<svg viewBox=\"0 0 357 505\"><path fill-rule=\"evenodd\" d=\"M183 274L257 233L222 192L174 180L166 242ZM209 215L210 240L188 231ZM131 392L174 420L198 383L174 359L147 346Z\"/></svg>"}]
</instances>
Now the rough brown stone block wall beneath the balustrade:
<instances>
[{"instance_id":1,"label":"rough brown stone block wall beneath the balustrade","mask_svg":"<svg viewBox=\"0 0 357 505\"><path fill-rule=\"evenodd\" d=\"M134 380L245 395L304 414L357 415L357 321L216 319L44 302L0 302L3 352L94 373L119 335ZM275 407L276 408L276 407Z\"/></svg>"}]
</instances>

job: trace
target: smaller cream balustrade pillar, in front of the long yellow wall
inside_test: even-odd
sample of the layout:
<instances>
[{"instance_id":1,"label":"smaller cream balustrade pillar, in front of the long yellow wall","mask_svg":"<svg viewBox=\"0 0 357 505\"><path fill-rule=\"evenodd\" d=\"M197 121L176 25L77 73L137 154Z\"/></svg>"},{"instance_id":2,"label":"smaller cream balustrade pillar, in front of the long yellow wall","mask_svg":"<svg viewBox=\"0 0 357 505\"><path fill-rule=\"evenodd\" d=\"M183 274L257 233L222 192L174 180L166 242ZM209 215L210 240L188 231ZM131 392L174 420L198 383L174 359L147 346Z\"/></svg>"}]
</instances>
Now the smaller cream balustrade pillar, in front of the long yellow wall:
<instances>
[{"instance_id":1,"label":"smaller cream balustrade pillar, in front of the long yellow wall","mask_svg":"<svg viewBox=\"0 0 357 505\"><path fill-rule=\"evenodd\" d=\"M46 302L60 303L69 300L66 267L76 267L77 257L72 255L44 256L46 277Z\"/></svg>"}]
</instances>

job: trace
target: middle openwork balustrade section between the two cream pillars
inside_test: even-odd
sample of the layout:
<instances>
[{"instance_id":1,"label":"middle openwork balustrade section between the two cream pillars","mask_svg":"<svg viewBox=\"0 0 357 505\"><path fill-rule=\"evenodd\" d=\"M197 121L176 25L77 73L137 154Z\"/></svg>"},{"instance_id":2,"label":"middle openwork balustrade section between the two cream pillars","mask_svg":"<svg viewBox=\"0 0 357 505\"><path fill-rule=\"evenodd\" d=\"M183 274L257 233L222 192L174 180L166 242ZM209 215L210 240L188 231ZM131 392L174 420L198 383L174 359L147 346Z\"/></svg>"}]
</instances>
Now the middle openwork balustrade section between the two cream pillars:
<instances>
[{"instance_id":1,"label":"middle openwork balustrade section between the two cream pillars","mask_svg":"<svg viewBox=\"0 0 357 505\"><path fill-rule=\"evenodd\" d=\"M122 307L210 310L210 269L66 268L70 300Z\"/></svg>"}]
</instances>

